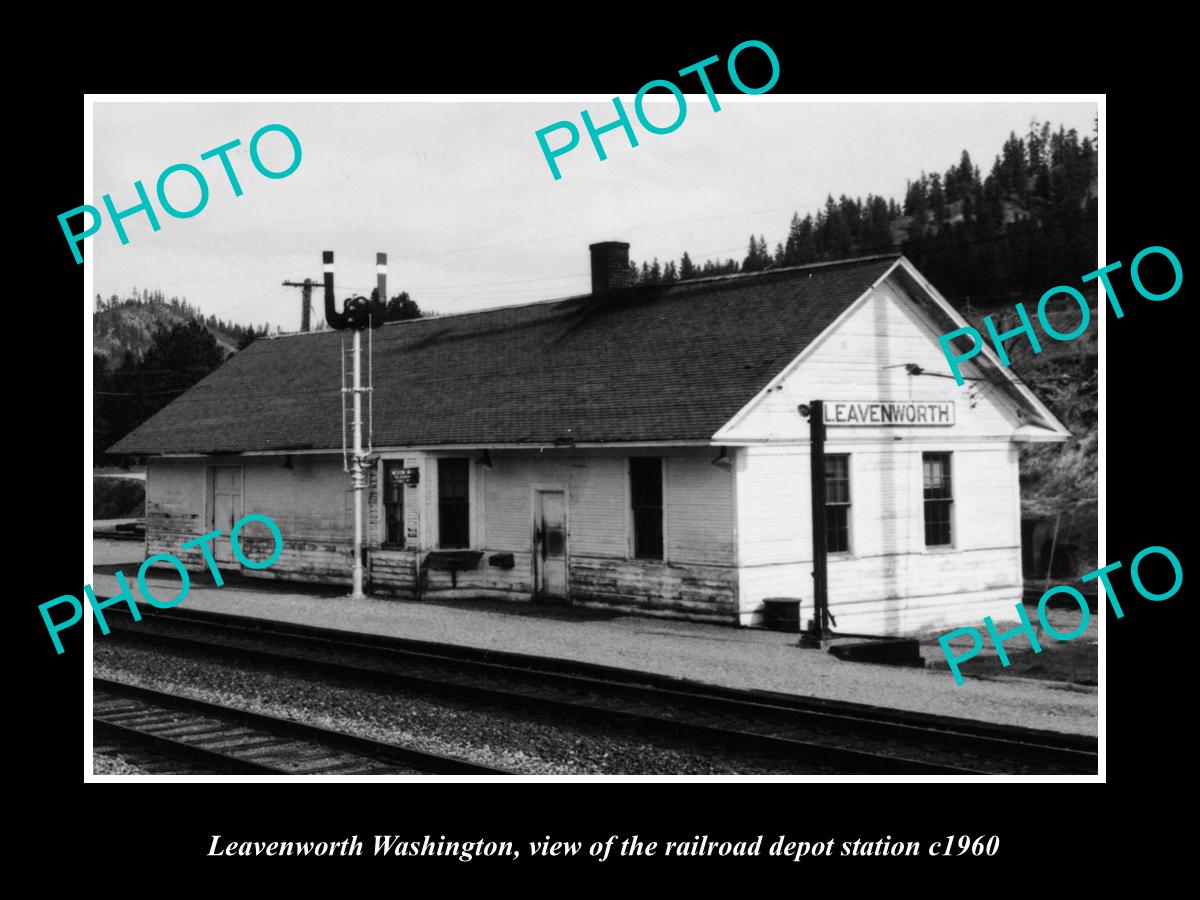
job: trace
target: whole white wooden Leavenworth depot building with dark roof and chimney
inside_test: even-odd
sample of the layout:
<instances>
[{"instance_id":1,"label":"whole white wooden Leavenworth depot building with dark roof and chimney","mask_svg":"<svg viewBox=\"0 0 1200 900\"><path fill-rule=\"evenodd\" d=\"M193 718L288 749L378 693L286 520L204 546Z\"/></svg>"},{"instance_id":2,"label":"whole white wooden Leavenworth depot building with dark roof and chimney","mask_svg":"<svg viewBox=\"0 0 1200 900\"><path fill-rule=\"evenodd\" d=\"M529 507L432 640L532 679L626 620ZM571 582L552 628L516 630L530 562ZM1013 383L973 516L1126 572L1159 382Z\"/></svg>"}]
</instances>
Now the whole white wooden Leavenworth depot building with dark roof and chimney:
<instances>
[{"instance_id":1,"label":"whole white wooden Leavenworth depot building with dark roof and chimney","mask_svg":"<svg viewBox=\"0 0 1200 900\"><path fill-rule=\"evenodd\" d=\"M840 631L1012 618L1018 449L1068 432L990 349L955 384L938 337L965 323L908 260L629 287L628 252L592 246L587 295L372 332L370 595L806 619L817 521ZM256 341L110 448L148 457L148 553L204 571L180 545L257 512L282 556L256 572L217 541L222 569L350 583L342 342Z\"/></svg>"}]
</instances>

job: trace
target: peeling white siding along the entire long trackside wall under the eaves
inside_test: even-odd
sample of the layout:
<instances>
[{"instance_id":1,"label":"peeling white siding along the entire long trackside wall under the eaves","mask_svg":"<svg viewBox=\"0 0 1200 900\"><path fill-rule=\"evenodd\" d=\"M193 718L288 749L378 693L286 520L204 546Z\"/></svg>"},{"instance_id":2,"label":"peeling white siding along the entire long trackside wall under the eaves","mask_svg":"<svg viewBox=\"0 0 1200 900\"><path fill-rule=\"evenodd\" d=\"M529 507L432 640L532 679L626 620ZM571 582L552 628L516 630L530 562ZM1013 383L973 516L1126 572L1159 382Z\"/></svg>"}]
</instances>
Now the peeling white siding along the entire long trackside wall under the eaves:
<instances>
[{"instance_id":1,"label":"peeling white siding along the entire long trackside wall under the eaves","mask_svg":"<svg viewBox=\"0 0 1200 900\"><path fill-rule=\"evenodd\" d=\"M647 452L647 451L643 451ZM666 451L664 451L666 452ZM736 620L737 572L733 568L732 473L710 464L704 449L670 456L664 481L666 562L632 560L628 455L623 451L492 451L492 468L472 455L472 516L476 550L484 557L473 571L451 574L424 569L437 540L437 458L451 452L384 454L416 467L420 484L406 487L409 536L403 550L382 547L380 467L367 482L367 586L372 593L401 599L420 596L500 596L528 600L534 590L533 497L535 490L568 494L568 554L571 602L628 611L653 611L707 620ZM340 456L223 457L155 460L148 475L150 552L180 556L203 569L199 551L180 544L203 534L208 468L244 467L244 514L270 516L283 535L283 552L270 569L247 575L348 584L353 562L353 494ZM150 527L149 523L152 523ZM265 527L248 524L242 550L263 559L272 550ZM511 569L490 557L511 553ZM234 564L230 564L230 566ZM240 566L239 566L240 568Z\"/></svg>"}]
</instances>

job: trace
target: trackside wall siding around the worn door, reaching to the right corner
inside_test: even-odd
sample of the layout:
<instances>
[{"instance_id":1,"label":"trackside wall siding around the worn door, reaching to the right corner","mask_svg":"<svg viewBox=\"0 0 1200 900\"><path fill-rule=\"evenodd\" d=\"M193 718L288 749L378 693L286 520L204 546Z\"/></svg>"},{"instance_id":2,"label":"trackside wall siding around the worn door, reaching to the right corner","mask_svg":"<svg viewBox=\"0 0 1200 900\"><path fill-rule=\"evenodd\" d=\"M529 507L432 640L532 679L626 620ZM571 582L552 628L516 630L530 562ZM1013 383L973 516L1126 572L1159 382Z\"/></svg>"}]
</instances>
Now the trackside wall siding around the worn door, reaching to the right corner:
<instances>
[{"instance_id":1,"label":"trackside wall siding around the worn door, reaching to the right corner","mask_svg":"<svg viewBox=\"0 0 1200 900\"><path fill-rule=\"evenodd\" d=\"M490 469L475 463L474 515L484 559L474 571L455 576L426 571L422 593L529 599L534 492L563 490L570 602L734 620L732 474L710 464L715 451L676 454L667 457L662 488L667 557L662 563L629 558L625 452L491 451ZM493 553L512 553L514 568L491 565Z\"/></svg>"}]
</instances>

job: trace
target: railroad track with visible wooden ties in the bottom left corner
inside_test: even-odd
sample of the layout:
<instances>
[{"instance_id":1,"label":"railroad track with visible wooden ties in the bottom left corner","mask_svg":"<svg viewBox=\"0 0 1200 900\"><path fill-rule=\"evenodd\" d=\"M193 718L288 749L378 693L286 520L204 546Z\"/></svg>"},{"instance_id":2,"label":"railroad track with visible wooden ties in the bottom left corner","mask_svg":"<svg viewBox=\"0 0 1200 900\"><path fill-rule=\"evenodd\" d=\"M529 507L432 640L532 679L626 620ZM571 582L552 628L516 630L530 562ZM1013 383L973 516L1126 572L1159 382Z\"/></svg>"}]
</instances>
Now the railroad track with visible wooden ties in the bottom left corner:
<instances>
[{"instance_id":1,"label":"railroad track with visible wooden ties in the bottom left corner","mask_svg":"<svg viewBox=\"0 0 1200 900\"><path fill-rule=\"evenodd\" d=\"M174 772L238 775L510 775L450 756L343 734L314 725L92 678L92 740L134 748L182 766ZM197 768L198 767L198 768Z\"/></svg>"}]
</instances>

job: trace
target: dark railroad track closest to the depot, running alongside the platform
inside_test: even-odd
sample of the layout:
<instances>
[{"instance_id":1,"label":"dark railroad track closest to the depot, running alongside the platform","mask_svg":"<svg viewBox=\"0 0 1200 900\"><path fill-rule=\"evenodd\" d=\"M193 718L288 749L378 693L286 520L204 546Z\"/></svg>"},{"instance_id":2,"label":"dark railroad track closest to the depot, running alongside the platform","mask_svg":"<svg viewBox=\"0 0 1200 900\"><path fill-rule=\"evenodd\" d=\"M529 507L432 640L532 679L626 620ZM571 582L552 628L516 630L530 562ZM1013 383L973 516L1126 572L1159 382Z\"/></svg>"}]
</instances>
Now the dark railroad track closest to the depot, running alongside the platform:
<instances>
[{"instance_id":1,"label":"dark railroad track closest to the depot, running alongside the platform","mask_svg":"<svg viewBox=\"0 0 1200 900\"><path fill-rule=\"evenodd\" d=\"M1092 774L1094 738L744 691L629 670L197 610L106 611L113 631L356 682L552 710L857 774Z\"/></svg>"}]
</instances>

